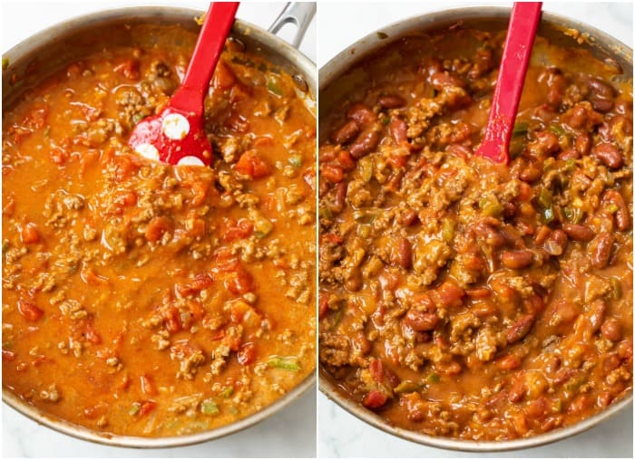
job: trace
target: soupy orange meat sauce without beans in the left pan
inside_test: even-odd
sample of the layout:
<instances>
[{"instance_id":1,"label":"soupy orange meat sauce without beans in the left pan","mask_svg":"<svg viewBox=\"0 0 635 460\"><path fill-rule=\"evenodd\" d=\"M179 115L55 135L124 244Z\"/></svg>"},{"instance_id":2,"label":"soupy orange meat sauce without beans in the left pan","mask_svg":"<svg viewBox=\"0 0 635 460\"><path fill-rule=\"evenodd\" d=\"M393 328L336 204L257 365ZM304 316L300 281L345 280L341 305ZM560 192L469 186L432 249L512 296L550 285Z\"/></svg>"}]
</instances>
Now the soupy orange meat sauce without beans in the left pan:
<instances>
[{"instance_id":1,"label":"soupy orange meat sauce without beans in the left pan","mask_svg":"<svg viewBox=\"0 0 635 460\"><path fill-rule=\"evenodd\" d=\"M109 433L208 430L315 369L316 121L230 40L205 101L212 167L141 158L128 136L196 34L110 33L133 44L106 33L5 108L3 385Z\"/></svg>"}]
</instances>

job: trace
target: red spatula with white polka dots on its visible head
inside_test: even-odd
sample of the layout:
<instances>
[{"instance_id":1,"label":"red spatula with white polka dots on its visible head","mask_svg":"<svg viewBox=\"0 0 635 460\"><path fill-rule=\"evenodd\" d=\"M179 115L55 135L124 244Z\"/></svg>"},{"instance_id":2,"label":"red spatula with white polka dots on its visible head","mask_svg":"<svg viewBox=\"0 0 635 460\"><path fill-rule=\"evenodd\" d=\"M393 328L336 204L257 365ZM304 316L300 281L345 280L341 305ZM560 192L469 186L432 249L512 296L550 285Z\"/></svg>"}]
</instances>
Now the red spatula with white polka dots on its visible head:
<instances>
[{"instance_id":1,"label":"red spatula with white polka dots on its visible head","mask_svg":"<svg viewBox=\"0 0 635 460\"><path fill-rule=\"evenodd\" d=\"M239 2L210 4L181 87L161 112L140 121L132 130L128 144L134 151L171 165L210 165L203 101L238 6Z\"/></svg>"}]
</instances>

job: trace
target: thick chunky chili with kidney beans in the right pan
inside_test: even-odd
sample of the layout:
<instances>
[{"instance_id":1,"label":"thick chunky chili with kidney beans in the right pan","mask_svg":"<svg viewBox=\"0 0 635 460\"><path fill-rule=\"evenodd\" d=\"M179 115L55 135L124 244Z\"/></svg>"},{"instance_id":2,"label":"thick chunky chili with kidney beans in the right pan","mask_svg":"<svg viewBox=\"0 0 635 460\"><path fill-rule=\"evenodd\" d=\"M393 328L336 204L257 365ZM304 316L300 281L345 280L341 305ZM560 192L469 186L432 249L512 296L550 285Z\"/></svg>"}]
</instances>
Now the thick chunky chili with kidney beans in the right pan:
<instances>
[{"instance_id":1,"label":"thick chunky chili with kidney beans in the right pan","mask_svg":"<svg viewBox=\"0 0 635 460\"><path fill-rule=\"evenodd\" d=\"M632 83L538 38L495 166L503 37L405 38L320 95L319 360L432 436L532 436L632 388Z\"/></svg>"}]
</instances>

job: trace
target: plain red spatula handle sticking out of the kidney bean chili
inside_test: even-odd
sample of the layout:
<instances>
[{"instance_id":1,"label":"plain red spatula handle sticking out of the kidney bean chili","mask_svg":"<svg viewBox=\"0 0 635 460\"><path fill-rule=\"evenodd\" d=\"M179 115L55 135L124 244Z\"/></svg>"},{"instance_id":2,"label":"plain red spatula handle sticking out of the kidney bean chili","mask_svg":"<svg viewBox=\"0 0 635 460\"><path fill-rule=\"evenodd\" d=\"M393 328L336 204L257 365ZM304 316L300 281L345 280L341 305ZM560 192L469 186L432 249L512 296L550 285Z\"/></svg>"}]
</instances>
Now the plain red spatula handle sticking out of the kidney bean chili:
<instances>
[{"instance_id":1,"label":"plain red spatula handle sticking out of the kidney bean chili","mask_svg":"<svg viewBox=\"0 0 635 460\"><path fill-rule=\"evenodd\" d=\"M532 55L542 2L513 4L501 67L493 91L492 109L476 155L496 163L509 163L509 142L523 93L524 77Z\"/></svg>"}]
</instances>

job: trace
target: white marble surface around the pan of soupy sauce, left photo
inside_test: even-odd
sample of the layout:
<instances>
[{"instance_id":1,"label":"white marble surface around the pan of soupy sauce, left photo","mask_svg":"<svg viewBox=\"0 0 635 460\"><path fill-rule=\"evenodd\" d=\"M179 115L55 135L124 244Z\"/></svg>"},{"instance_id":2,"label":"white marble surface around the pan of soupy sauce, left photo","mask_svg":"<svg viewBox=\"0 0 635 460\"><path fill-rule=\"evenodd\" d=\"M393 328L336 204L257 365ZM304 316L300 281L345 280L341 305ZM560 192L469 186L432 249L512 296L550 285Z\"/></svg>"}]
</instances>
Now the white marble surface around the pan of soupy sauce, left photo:
<instances>
[{"instance_id":1,"label":"white marble surface around the pan of soupy sauce, left photo","mask_svg":"<svg viewBox=\"0 0 635 460\"><path fill-rule=\"evenodd\" d=\"M207 9L208 2L30 2L2 1L3 52L30 35L73 16L133 5L181 5ZM243 2L238 17L265 29L284 7L283 2ZM316 18L310 24L300 51L316 61ZM282 37L289 39L295 28L285 26ZM316 452L316 390L311 388L274 417L240 433L198 446L171 449L134 450L100 446L74 439L38 426L3 406L3 457L309 457Z\"/></svg>"}]
</instances>

